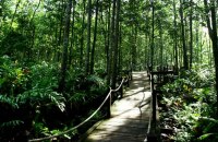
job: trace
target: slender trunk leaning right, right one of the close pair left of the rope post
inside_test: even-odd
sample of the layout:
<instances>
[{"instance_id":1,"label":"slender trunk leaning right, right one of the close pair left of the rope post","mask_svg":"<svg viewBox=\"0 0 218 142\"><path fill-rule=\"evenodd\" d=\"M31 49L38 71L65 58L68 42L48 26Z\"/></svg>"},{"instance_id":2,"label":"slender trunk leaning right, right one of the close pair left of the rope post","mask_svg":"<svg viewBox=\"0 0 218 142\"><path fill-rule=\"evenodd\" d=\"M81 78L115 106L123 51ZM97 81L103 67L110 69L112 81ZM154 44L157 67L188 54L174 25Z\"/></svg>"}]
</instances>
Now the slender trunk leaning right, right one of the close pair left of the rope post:
<instances>
[{"instance_id":1,"label":"slender trunk leaning right, right one of the close pair left of the rope post","mask_svg":"<svg viewBox=\"0 0 218 142\"><path fill-rule=\"evenodd\" d=\"M94 29L94 39L93 39L93 49L90 57L90 74L94 73L94 64L95 64L95 48L96 48L96 38L97 38L97 28L98 28L98 1L96 0L96 15L95 15L95 29Z\"/></svg>"}]
</instances>

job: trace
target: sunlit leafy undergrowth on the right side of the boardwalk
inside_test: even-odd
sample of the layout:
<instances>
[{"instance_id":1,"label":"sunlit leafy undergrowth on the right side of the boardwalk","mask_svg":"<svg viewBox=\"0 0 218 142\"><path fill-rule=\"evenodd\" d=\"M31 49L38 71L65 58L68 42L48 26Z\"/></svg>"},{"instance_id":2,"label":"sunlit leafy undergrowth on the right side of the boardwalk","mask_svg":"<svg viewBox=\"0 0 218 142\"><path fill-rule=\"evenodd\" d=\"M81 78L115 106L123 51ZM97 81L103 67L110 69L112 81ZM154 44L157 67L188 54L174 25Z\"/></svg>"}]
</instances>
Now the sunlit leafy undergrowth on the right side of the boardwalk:
<instances>
[{"instance_id":1,"label":"sunlit leafy undergrowth on the right side of the boardwalk","mask_svg":"<svg viewBox=\"0 0 218 142\"><path fill-rule=\"evenodd\" d=\"M199 68L182 72L162 86L159 105L164 141L218 141L214 85L214 71Z\"/></svg>"}]
</instances>

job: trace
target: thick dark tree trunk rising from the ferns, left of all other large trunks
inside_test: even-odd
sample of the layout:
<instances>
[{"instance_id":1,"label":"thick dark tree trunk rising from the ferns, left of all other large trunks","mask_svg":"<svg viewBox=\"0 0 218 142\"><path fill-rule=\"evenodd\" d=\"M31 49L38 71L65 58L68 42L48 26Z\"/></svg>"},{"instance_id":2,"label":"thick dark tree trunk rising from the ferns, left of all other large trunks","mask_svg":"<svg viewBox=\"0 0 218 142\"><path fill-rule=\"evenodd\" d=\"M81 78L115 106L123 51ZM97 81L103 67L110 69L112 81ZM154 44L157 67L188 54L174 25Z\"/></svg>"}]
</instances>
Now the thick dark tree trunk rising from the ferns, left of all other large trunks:
<instances>
[{"instance_id":1,"label":"thick dark tree trunk rising from the ferns, left of all other large trunks","mask_svg":"<svg viewBox=\"0 0 218 142\"><path fill-rule=\"evenodd\" d=\"M65 16L65 27L64 27L64 36L63 36L63 49L62 49L62 63L61 63L61 74L59 82L59 91L63 92L65 86L65 73L68 67L68 48L69 48L69 34L70 34L70 20L71 20L71 8L72 0L69 0L66 16Z\"/></svg>"}]
</instances>

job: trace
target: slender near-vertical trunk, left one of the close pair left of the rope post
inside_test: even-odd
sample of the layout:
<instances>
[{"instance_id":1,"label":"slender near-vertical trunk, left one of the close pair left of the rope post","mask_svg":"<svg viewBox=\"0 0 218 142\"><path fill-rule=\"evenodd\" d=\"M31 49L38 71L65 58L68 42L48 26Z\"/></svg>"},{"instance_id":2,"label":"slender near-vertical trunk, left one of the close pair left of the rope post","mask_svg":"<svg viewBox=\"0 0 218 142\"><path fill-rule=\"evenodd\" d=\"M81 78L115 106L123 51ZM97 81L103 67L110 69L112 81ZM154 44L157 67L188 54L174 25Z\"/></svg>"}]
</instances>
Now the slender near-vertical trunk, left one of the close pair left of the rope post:
<instances>
[{"instance_id":1,"label":"slender near-vertical trunk, left one of the close pair left of the rope post","mask_svg":"<svg viewBox=\"0 0 218 142\"><path fill-rule=\"evenodd\" d=\"M90 67L90 26L92 26L92 0L88 0L88 22L87 22L87 48L86 48L86 69L85 74L89 74Z\"/></svg>"}]
</instances>

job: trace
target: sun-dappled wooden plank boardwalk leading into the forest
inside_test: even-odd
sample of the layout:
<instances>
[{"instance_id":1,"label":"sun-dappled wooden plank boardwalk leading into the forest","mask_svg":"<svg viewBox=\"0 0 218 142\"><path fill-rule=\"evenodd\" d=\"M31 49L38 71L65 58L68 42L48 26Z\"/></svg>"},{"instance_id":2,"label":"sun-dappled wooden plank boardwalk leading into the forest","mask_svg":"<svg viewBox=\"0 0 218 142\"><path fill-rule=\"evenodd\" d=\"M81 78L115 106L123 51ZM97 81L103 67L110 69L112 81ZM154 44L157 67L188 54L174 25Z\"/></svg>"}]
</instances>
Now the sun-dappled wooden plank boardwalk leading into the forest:
<instances>
[{"instance_id":1,"label":"sun-dappled wooden plank boardwalk leading into the forest","mask_svg":"<svg viewBox=\"0 0 218 142\"><path fill-rule=\"evenodd\" d=\"M95 125L85 142L143 142L148 131L150 90L145 72L133 72L123 98L113 103L111 118Z\"/></svg>"}]
</instances>

